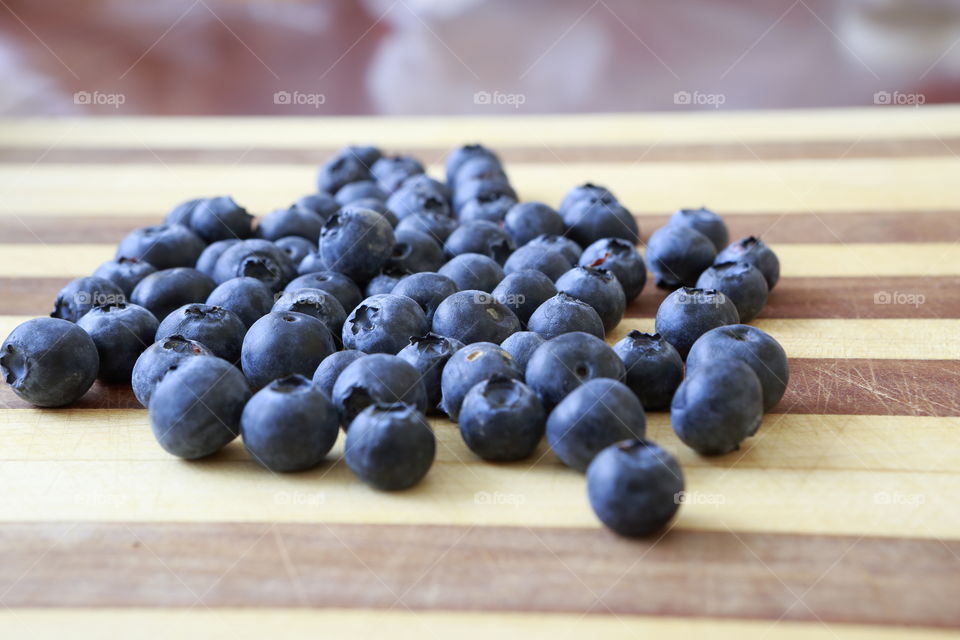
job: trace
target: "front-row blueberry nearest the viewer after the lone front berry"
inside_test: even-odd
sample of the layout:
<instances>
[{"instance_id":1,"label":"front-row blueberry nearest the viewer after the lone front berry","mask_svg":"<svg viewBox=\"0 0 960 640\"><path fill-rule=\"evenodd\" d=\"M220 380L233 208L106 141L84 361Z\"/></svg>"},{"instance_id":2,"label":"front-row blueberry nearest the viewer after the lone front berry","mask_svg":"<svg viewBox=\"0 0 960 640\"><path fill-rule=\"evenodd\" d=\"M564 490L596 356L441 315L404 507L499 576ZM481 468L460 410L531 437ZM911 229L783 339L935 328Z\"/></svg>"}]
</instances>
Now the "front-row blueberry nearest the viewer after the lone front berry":
<instances>
[{"instance_id":1,"label":"front-row blueberry nearest the viewer after the lone front berry","mask_svg":"<svg viewBox=\"0 0 960 640\"><path fill-rule=\"evenodd\" d=\"M353 473L382 491L420 482L437 452L426 418L400 403L368 407L350 424L344 457Z\"/></svg>"}]
</instances>

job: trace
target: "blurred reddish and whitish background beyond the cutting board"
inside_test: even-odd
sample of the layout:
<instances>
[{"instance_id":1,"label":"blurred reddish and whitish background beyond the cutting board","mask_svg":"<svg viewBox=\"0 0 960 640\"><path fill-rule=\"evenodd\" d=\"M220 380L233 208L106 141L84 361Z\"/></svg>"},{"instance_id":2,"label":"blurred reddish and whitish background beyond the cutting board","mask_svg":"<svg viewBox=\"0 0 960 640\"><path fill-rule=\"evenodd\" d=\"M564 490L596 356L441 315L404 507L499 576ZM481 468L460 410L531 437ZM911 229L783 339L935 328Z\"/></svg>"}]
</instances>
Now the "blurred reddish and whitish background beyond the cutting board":
<instances>
[{"instance_id":1,"label":"blurred reddish and whitish background beyond the cutting board","mask_svg":"<svg viewBox=\"0 0 960 640\"><path fill-rule=\"evenodd\" d=\"M958 0L0 0L5 115L960 101Z\"/></svg>"}]
</instances>

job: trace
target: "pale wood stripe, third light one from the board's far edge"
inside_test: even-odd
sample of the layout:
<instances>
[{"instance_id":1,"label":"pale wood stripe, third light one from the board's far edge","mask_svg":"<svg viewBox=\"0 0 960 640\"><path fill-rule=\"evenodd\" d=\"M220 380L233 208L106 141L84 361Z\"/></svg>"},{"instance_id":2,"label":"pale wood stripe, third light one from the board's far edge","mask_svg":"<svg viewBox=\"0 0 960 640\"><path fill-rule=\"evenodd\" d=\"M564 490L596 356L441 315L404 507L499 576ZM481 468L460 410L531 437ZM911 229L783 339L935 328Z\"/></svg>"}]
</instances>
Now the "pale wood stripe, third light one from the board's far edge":
<instances>
[{"instance_id":1,"label":"pale wood stripe, third light one from the board's far edge","mask_svg":"<svg viewBox=\"0 0 960 640\"><path fill-rule=\"evenodd\" d=\"M960 242L797 243L773 249L785 277L960 275ZM0 244L0 277L87 275L115 250L111 244ZM877 290L887 290L884 281L877 281Z\"/></svg>"}]
</instances>

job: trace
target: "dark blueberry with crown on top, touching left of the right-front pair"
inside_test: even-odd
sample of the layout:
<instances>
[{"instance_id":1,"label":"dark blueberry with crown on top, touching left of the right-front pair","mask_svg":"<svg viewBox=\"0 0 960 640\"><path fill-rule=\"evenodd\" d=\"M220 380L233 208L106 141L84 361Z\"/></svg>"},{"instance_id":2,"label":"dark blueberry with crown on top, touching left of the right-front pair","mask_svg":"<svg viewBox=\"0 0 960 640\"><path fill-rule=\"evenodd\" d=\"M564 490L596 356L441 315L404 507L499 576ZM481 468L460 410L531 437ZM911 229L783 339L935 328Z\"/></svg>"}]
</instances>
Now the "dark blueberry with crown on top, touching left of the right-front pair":
<instances>
[{"instance_id":1,"label":"dark blueberry with crown on top, touching left of the right-front pair","mask_svg":"<svg viewBox=\"0 0 960 640\"><path fill-rule=\"evenodd\" d=\"M683 358L659 333L631 331L613 345L627 369L626 385L647 411L666 409L683 380Z\"/></svg>"}]
</instances>

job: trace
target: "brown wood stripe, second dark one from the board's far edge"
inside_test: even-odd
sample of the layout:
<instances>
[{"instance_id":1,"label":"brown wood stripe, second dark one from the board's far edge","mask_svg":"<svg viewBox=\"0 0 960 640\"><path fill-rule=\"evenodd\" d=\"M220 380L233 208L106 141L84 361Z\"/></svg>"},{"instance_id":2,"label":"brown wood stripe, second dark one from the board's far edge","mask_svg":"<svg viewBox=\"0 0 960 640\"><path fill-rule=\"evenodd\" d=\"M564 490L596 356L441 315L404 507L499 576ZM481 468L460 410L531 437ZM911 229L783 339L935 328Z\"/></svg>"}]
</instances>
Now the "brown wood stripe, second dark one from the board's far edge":
<instances>
[{"instance_id":1,"label":"brown wood stripe, second dark one from the board's far edge","mask_svg":"<svg viewBox=\"0 0 960 640\"><path fill-rule=\"evenodd\" d=\"M175 203L169 204L170 207ZM684 203L680 203L684 204ZM700 206L700 202L685 203ZM262 214L264 212L257 212ZM789 212L743 214L721 212L731 239L760 235L769 243L943 242L960 237L960 209L933 211ZM131 229L157 224L166 214L159 206L155 215L57 216L37 214L0 215L0 242L69 244L74 242L119 242ZM644 242L667 222L666 214L636 216Z\"/></svg>"}]
</instances>

